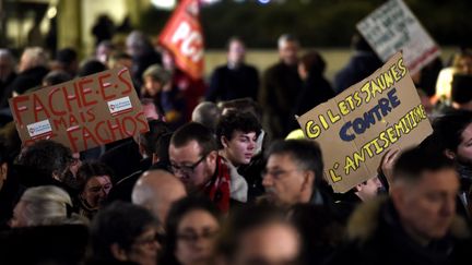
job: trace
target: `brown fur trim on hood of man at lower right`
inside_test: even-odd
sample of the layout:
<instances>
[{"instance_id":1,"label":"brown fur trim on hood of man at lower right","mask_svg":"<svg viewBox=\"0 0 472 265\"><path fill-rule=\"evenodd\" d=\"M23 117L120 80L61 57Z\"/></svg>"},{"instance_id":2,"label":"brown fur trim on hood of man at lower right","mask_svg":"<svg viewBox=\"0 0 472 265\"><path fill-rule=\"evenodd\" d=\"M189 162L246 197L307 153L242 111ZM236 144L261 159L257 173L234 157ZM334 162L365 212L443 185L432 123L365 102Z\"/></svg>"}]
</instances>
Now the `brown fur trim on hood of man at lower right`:
<instances>
[{"instance_id":1,"label":"brown fur trim on hood of man at lower right","mask_svg":"<svg viewBox=\"0 0 472 265\"><path fill-rule=\"evenodd\" d=\"M379 196L361 204L349 219L346 227L349 240L355 240L358 242L370 240L376 234L382 208L388 202L388 196ZM450 227L450 233L455 238L462 239L470 237L471 231L465 220L456 215Z\"/></svg>"}]
</instances>

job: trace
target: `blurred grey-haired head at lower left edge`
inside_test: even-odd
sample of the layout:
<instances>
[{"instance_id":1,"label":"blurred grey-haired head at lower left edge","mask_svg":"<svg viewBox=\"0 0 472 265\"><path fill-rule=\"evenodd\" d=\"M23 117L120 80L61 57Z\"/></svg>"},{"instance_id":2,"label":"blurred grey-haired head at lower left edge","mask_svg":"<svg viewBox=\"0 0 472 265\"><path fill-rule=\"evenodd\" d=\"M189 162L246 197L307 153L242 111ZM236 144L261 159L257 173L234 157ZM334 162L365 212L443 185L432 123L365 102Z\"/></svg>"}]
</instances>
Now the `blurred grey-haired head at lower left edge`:
<instances>
[{"instance_id":1,"label":"blurred grey-haired head at lower left edge","mask_svg":"<svg viewBox=\"0 0 472 265\"><path fill-rule=\"evenodd\" d=\"M71 216L69 194L55 185L27 189L13 210L11 227L60 225Z\"/></svg>"}]
</instances>

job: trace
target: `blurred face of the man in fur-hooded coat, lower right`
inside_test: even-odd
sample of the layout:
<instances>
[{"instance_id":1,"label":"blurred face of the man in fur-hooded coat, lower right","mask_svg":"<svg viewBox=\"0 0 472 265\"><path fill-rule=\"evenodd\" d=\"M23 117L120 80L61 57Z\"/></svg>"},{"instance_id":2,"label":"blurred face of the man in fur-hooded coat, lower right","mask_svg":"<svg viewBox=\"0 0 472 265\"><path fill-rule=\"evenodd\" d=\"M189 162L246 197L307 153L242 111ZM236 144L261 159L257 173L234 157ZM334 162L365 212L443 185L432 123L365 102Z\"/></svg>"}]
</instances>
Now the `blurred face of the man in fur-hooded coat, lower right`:
<instances>
[{"instance_id":1,"label":"blurred face of the man in fur-hooded coat, lower right","mask_svg":"<svg viewBox=\"0 0 472 265\"><path fill-rule=\"evenodd\" d=\"M411 185L411 186L410 186ZM400 220L413 238L444 237L456 214L459 179L455 169L425 171L418 183L399 184L391 193Z\"/></svg>"}]
</instances>

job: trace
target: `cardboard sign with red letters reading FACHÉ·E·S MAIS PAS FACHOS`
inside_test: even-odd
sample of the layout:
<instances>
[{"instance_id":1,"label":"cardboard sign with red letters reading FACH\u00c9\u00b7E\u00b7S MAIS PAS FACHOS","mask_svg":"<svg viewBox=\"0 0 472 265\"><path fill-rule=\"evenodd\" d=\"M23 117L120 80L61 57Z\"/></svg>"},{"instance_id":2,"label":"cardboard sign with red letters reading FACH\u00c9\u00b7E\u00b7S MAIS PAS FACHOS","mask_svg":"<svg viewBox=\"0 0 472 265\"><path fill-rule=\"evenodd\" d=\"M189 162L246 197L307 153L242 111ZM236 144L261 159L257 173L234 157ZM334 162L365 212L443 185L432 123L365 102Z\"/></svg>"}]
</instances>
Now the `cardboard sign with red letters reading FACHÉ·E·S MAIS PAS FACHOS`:
<instances>
[{"instance_id":1,"label":"cardboard sign with red letters reading FACH\u00c9\u00b7E\u00b7S MAIS PAS FACHOS","mask_svg":"<svg viewBox=\"0 0 472 265\"><path fill-rule=\"evenodd\" d=\"M72 152L149 131L128 69L114 69L9 100L23 144L48 138Z\"/></svg>"}]
</instances>

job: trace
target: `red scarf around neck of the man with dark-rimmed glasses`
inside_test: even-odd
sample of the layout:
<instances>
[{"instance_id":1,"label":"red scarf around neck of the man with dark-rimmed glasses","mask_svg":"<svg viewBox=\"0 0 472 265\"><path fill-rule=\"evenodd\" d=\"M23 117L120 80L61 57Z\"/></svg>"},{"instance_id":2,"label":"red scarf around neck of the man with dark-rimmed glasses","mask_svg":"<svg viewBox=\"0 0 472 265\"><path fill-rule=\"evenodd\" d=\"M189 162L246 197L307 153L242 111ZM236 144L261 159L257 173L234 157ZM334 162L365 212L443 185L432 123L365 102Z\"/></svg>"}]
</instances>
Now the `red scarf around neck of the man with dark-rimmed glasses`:
<instances>
[{"instance_id":1,"label":"red scarf around neck of the man with dark-rimmed glasses","mask_svg":"<svg viewBox=\"0 0 472 265\"><path fill-rule=\"evenodd\" d=\"M216 172L204 188L204 193L216 204L223 214L229 210L229 168L223 157L216 158Z\"/></svg>"}]
</instances>

